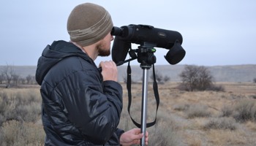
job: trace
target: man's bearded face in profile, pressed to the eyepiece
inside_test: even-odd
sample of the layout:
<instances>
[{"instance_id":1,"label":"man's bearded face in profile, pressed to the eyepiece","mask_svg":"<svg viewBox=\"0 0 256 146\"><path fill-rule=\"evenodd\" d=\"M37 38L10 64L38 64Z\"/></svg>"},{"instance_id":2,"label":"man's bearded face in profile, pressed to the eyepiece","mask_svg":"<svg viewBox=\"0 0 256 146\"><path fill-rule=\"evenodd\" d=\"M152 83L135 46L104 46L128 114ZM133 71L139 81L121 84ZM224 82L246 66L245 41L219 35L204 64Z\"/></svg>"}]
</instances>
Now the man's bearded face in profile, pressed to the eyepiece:
<instances>
[{"instance_id":1,"label":"man's bearded face in profile, pressed to the eyepiece","mask_svg":"<svg viewBox=\"0 0 256 146\"><path fill-rule=\"evenodd\" d=\"M110 55L111 41L113 41L113 36L111 36L111 34L108 33L108 35L104 39L102 39L102 41L99 42L99 45L97 45L99 56Z\"/></svg>"}]
</instances>

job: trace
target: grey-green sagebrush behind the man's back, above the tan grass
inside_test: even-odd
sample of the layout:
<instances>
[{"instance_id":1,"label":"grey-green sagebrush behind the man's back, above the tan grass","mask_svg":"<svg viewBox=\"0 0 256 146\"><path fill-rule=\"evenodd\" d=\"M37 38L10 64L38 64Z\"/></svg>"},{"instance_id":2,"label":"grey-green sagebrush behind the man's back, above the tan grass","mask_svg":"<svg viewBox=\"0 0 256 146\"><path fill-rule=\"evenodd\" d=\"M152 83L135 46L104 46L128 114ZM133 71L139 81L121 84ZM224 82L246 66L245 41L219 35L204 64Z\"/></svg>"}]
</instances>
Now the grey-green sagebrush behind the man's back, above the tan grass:
<instances>
[{"instance_id":1,"label":"grey-green sagebrush behind the man's back, above the tan grass","mask_svg":"<svg viewBox=\"0 0 256 146\"><path fill-rule=\"evenodd\" d=\"M15 92L0 96L0 126L6 120L18 120L35 123L41 114L41 98L34 91Z\"/></svg>"}]
</instances>

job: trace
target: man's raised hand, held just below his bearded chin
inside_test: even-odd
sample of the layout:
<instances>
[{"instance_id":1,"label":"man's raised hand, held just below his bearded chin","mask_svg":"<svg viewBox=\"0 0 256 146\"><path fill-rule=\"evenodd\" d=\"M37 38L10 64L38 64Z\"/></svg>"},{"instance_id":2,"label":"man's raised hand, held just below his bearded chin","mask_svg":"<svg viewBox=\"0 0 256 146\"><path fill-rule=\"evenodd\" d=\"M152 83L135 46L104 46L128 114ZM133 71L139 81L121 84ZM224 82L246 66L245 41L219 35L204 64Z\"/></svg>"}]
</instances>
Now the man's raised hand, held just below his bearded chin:
<instances>
[{"instance_id":1,"label":"man's raised hand, held just below his bearded chin","mask_svg":"<svg viewBox=\"0 0 256 146\"><path fill-rule=\"evenodd\" d=\"M113 61L101 61L103 80L113 80L117 82L117 67Z\"/></svg>"}]
</instances>

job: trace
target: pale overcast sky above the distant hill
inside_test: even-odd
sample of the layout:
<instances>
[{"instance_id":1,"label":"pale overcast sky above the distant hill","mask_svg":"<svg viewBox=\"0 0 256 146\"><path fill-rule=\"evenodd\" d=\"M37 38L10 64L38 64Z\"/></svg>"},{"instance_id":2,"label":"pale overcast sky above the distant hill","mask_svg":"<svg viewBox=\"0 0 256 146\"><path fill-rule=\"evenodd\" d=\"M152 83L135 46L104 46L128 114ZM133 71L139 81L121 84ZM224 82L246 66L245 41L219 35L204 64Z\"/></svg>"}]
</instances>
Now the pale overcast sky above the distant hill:
<instances>
[{"instance_id":1,"label":"pale overcast sky above the distant hill","mask_svg":"<svg viewBox=\"0 0 256 146\"><path fill-rule=\"evenodd\" d=\"M46 45L69 41L67 18L84 2L108 9L114 26L146 24L180 32L187 54L179 64L256 64L255 0L8 0L0 1L0 65L35 66ZM168 64L166 53L157 48L156 64Z\"/></svg>"}]
</instances>

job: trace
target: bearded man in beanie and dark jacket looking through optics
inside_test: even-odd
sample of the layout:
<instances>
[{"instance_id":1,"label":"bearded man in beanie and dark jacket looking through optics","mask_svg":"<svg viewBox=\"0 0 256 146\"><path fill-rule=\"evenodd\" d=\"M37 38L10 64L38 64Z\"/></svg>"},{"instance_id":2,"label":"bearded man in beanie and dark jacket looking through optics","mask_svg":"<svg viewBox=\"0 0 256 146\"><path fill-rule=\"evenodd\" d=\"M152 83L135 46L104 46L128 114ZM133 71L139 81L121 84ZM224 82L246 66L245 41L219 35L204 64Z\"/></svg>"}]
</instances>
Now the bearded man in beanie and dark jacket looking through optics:
<instances>
[{"instance_id":1,"label":"bearded man in beanie and dark jacket looking through optics","mask_svg":"<svg viewBox=\"0 0 256 146\"><path fill-rule=\"evenodd\" d=\"M102 72L94 64L98 55L110 55L112 28L106 9L80 4L67 20L71 41L56 41L43 50L36 80L41 85L45 145L140 144L139 128L117 128L122 88L116 64L100 62Z\"/></svg>"}]
</instances>

